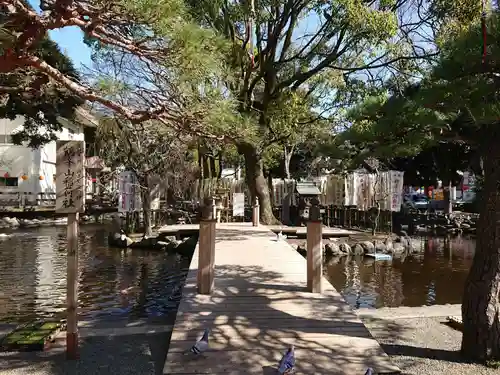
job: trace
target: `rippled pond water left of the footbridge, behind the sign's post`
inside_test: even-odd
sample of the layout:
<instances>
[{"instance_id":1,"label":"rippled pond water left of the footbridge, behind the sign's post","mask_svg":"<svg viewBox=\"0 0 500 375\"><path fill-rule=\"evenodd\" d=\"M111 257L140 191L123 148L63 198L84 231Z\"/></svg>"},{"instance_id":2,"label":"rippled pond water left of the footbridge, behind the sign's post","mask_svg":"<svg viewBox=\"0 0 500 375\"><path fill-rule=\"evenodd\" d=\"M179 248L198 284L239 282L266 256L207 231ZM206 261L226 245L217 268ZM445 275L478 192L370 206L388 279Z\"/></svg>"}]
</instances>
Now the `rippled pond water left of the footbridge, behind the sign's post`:
<instances>
[{"instance_id":1,"label":"rippled pond water left of the footbridge, behind the sign's post","mask_svg":"<svg viewBox=\"0 0 500 375\"><path fill-rule=\"evenodd\" d=\"M83 225L79 246L82 320L175 314L189 259L107 246L103 227ZM65 316L66 228L16 231L0 241L0 322Z\"/></svg>"}]
</instances>

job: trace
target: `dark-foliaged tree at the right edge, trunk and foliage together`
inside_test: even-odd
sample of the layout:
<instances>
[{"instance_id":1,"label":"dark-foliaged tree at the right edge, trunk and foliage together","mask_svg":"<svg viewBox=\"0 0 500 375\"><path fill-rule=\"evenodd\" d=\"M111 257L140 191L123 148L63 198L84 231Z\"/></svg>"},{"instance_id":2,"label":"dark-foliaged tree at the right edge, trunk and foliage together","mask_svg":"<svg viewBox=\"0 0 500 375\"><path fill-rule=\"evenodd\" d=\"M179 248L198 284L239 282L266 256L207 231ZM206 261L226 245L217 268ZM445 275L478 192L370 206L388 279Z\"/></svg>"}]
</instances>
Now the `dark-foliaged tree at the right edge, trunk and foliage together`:
<instances>
[{"instance_id":1,"label":"dark-foliaged tree at the right edge, trunk and foliage together","mask_svg":"<svg viewBox=\"0 0 500 375\"><path fill-rule=\"evenodd\" d=\"M481 20L480 7L474 9L475 16L469 8L458 13L467 22L450 18L440 35L442 56L413 95L372 100L355 126L367 139L385 139L394 150L439 141L477 149L484 183L476 252L463 295L461 352L484 362L500 359L500 17L493 13Z\"/></svg>"}]
</instances>

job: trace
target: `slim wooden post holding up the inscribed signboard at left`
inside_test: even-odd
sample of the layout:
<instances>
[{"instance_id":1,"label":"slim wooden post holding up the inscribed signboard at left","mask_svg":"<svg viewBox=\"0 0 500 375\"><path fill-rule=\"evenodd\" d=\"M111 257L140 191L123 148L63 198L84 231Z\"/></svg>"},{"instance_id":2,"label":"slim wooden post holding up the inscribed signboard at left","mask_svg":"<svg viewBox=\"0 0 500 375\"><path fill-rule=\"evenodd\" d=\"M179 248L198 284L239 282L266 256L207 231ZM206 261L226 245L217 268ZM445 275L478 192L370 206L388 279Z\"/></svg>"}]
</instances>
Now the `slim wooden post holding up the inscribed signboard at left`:
<instances>
[{"instance_id":1,"label":"slim wooden post holding up the inscribed signboard at left","mask_svg":"<svg viewBox=\"0 0 500 375\"><path fill-rule=\"evenodd\" d=\"M68 214L66 355L78 359L78 212Z\"/></svg>"}]
</instances>

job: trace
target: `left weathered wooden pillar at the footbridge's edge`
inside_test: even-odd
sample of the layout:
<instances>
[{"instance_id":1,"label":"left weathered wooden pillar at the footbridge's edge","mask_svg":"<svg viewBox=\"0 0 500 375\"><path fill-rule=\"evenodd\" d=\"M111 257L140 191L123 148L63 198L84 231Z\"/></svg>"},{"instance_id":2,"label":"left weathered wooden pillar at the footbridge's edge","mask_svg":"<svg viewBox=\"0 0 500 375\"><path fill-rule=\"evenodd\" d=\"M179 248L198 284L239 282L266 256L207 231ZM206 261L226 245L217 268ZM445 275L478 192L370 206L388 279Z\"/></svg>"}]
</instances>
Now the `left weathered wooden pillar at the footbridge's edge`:
<instances>
[{"instance_id":1,"label":"left weathered wooden pillar at the footbridge's edge","mask_svg":"<svg viewBox=\"0 0 500 375\"><path fill-rule=\"evenodd\" d=\"M210 294L214 287L215 201L208 199L202 208L198 245L198 293Z\"/></svg>"}]
</instances>

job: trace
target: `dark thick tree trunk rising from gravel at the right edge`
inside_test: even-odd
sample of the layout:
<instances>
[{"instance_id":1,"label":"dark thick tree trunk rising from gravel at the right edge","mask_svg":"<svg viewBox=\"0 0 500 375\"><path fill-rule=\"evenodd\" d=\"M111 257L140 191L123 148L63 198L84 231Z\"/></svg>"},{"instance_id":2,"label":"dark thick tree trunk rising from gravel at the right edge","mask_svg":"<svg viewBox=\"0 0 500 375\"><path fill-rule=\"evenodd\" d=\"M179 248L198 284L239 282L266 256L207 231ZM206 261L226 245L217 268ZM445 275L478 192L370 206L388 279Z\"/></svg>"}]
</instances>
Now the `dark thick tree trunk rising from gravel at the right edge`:
<instances>
[{"instance_id":1,"label":"dark thick tree trunk rising from gravel at the right edge","mask_svg":"<svg viewBox=\"0 0 500 375\"><path fill-rule=\"evenodd\" d=\"M500 129L492 128L483 149L484 190L474 260L462 301L465 359L500 360Z\"/></svg>"}]
</instances>

